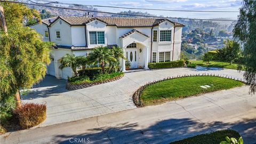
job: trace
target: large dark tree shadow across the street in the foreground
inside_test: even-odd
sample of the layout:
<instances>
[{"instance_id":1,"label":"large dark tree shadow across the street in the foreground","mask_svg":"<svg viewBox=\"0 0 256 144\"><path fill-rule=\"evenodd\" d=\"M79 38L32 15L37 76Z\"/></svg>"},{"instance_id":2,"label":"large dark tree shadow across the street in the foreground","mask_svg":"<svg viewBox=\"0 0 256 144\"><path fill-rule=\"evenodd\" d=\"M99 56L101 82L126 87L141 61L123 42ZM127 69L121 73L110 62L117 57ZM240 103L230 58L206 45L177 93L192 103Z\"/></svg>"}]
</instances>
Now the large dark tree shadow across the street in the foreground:
<instances>
[{"instance_id":1,"label":"large dark tree shadow across the street in the foreground","mask_svg":"<svg viewBox=\"0 0 256 144\"><path fill-rule=\"evenodd\" d=\"M147 122L146 122L147 123ZM119 124L117 127L100 127L80 135L57 135L54 143L71 143L75 139L89 138L90 143L170 143L212 131L231 129L239 132L245 143L256 141L256 118L234 123L201 123L190 118L167 119L143 128L137 123ZM83 143L78 141L77 143Z\"/></svg>"}]
</instances>

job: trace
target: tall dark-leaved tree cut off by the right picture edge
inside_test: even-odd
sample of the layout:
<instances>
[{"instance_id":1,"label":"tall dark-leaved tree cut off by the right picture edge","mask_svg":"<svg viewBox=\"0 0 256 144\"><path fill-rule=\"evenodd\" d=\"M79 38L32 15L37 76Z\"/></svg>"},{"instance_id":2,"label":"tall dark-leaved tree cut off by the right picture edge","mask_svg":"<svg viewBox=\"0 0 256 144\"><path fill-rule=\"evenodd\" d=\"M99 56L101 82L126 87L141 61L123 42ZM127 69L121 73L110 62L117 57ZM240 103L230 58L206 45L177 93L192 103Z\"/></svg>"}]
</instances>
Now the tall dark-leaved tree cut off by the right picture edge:
<instances>
[{"instance_id":1,"label":"tall dark-leaved tree cut off by the right picture edge","mask_svg":"<svg viewBox=\"0 0 256 144\"><path fill-rule=\"evenodd\" d=\"M244 0L233 33L242 43L246 72L244 78L250 83L250 92L256 91L256 1Z\"/></svg>"}]
</instances>

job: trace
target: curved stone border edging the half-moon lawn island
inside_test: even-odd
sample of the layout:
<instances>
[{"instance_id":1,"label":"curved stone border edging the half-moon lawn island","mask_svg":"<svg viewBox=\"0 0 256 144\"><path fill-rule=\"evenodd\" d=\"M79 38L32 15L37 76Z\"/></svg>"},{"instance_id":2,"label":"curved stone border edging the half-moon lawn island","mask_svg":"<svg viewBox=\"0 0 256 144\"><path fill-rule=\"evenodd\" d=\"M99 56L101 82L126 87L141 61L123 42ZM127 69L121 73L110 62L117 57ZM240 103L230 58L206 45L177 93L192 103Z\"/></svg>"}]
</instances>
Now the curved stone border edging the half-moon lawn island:
<instances>
[{"instance_id":1,"label":"curved stone border edging the half-moon lawn island","mask_svg":"<svg viewBox=\"0 0 256 144\"><path fill-rule=\"evenodd\" d=\"M247 84L244 79L235 79L234 77L229 77L228 75L215 75L215 74L206 74L206 73L203 73L203 74L194 74L194 75L178 75L176 77L172 76L172 77L166 77L164 79L161 79L161 80L158 80L158 81L153 81L153 82L149 82L149 83L146 83L145 85L143 86L140 86L139 89L137 91L135 91L132 95L132 99L133 99L133 102L135 104L135 106L137 107L143 107L143 103L141 102L140 100L140 95L141 93L143 92L143 90L146 89L146 87L148 87L149 85L152 85L152 84L156 84L156 83L159 83L159 82L163 82L163 81L167 81L169 79L175 79L175 78L181 78L181 77L190 77L190 76L215 76L215 77L223 77L223 78L229 78L229 79L234 79L236 81L240 81L242 83L245 83Z\"/></svg>"}]
</instances>

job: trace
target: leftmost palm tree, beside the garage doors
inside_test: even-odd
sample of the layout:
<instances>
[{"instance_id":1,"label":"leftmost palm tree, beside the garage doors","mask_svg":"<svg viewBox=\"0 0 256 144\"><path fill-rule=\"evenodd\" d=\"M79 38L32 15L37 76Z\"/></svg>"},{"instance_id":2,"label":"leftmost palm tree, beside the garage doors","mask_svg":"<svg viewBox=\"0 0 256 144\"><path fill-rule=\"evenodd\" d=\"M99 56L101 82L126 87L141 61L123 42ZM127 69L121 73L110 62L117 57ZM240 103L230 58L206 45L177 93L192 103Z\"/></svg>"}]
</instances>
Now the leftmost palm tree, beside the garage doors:
<instances>
[{"instance_id":1,"label":"leftmost palm tree, beside the garage doors","mask_svg":"<svg viewBox=\"0 0 256 144\"><path fill-rule=\"evenodd\" d=\"M75 75L78 76L76 68L79 66L77 62L78 57L75 56L75 54L66 54L64 57L60 59L60 69L63 69L65 67L71 67L71 69L74 71Z\"/></svg>"}]
</instances>

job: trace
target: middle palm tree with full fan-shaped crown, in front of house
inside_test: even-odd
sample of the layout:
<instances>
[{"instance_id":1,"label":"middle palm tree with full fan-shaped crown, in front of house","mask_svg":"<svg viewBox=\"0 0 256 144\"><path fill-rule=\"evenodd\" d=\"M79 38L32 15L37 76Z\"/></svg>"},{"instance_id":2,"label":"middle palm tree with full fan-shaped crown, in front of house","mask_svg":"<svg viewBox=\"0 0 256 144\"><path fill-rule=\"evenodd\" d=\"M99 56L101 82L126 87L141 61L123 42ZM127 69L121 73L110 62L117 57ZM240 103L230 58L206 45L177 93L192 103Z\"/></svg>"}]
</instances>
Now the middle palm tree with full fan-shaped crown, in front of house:
<instances>
[{"instance_id":1,"label":"middle palm tree with full fan-shaped crown, in front of house","mask_svg":"<svg viewBox=\"0 0 256 144\"><path fill-rule=\"evenodd\" d=\"M117 61L110 53L109 49L103 46L99 46L93 49L93 51L88 55L88 60L89 62L94 63L94 65L99 63L103 74L105 74L106 71L106 64Z\"/></svg>"}]
</instances>

